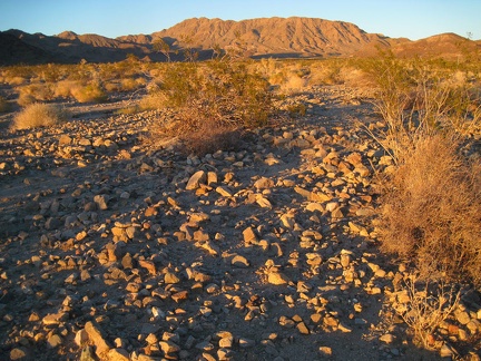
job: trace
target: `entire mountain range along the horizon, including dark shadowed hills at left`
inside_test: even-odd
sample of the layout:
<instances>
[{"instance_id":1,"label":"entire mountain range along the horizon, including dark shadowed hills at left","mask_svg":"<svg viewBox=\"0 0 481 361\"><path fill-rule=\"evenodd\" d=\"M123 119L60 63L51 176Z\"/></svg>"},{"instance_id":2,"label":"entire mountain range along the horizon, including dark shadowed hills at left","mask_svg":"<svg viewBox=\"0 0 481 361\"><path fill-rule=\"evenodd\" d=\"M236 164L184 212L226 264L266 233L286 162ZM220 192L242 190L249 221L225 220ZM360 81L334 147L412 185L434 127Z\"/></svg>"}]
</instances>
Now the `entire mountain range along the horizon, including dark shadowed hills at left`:
<instances>
[{"instance_id":1,"label":"entire mountain range along the horizon, including dark shadowed hills at left","mask_svg":"<svg viewBox=\"0 0 481 361\"><path fill-rule=\"evenodd\" d=\"M253 58L330 58L375 55L379 49L401 56L459 58L479 53L481 41L455 33L442 33L411 41L369 33L345 21L316 18L259 18L242 21L193 18L150 35L116 39L95 33L63 31L57 36L21 30L0 32L0 65L63 62L112 62L134 55L163 61L167 57L156 45L168 45L169 56L180 60L185 49L209 58L214 49L236 51Z\"/></svg>"}]
</instances>

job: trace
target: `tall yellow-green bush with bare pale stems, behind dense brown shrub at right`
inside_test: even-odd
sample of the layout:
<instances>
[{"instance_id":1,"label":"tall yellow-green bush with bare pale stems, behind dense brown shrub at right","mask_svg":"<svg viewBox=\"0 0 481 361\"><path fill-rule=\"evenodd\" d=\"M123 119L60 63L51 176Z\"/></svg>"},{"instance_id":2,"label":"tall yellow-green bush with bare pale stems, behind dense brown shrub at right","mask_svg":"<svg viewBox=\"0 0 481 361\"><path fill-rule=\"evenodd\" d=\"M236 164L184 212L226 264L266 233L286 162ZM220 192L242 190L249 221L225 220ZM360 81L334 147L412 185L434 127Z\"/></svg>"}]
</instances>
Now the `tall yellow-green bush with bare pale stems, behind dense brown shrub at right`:
<instances>
[{"instance_id":1,"label":"tall yellow-green bush with bare pale stems, behind dense brown shrub at right","mask_svg":"<svg viewBox=\"0 0 481 361\"><path fill-rule=\"evenodd\" d=\"M380 143L395 160L419 134L480 133L479 97L460 71L452 81L453 71L439 64L392 55L372 59L364 70L377 85L374 105L387 125Z\"/></svg>"}]
</instances>

